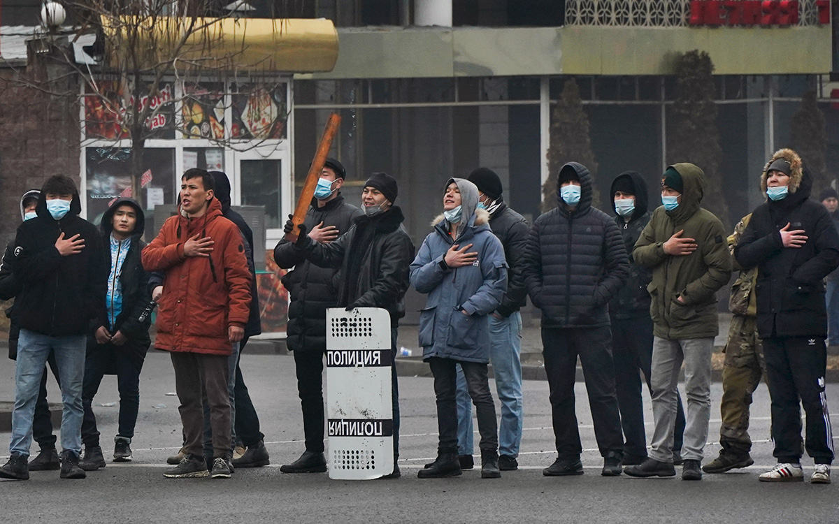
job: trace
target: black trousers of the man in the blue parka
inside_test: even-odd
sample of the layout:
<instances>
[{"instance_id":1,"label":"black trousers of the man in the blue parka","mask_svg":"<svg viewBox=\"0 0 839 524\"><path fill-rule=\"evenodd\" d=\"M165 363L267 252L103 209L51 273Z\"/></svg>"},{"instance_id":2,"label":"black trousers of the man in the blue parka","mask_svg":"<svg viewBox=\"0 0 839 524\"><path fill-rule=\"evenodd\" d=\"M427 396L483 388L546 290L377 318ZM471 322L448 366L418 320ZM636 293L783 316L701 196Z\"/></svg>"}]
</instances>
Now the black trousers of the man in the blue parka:
<instances>
[{"instance_id":1,"label":"black trousers of the man in the blue parka","mask_svg":"<svg viewBox=\"0 0 839 524\"><path fill-rule=\"evenodd\" d=\"M477 429L481 433L481 452L498 453L498 420L495 418L495 404L489 391L487 364L455 361L440 357L428 360L434 375L434 392L437 397L437 428L440 441L438 453L457 453L457 368L463 369L469 397L475 404Z\"/></svg>"}]
</instances>

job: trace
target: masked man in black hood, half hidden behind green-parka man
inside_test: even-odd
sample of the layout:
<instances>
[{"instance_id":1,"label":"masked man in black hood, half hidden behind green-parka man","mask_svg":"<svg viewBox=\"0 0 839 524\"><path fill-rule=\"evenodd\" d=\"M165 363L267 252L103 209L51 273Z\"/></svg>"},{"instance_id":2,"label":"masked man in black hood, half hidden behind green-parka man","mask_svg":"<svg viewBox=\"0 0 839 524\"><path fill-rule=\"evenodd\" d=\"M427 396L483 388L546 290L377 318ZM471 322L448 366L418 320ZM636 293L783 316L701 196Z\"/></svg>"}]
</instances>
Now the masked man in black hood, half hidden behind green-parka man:
<instances>
[{"instance_id":1,"label":"masked man in black hood, half hidden behind green-parka man","mask_svg":"<svg viewBox=\"0 0 839 524\"><path fill-rule=\"evenodd\" d=\"M649 375L653 362L653 319L649 316L647 286L653 275L638 266L632 257L633 246L649 222L649 195L644 177L637 171L626 171L612 182L612 210L615 222L623 235L623 246L629 256L629 278L618 294L609 302L612 319L612 357L615 361L615 387L621 408L621 424L626 444L623 464L641 464L647 458L647 437L644 432L644 402L641 397L641 377L652 391ZM679 397L676 414L673 455L678 463L685 432L685 410Z\"/></svg>"}]
</instances>

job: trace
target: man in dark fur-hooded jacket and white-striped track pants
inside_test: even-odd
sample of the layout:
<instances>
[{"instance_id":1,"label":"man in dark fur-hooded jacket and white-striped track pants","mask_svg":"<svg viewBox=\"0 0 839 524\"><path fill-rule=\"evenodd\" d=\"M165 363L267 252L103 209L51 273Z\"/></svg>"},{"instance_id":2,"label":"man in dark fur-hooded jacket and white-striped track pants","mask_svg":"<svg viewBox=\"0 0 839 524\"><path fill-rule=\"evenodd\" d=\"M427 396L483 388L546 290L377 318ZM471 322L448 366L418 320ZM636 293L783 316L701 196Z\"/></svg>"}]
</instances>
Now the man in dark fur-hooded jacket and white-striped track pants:
<instances>
[{"instance_id":1,"label":"man in dark fur-hooded jacket and white-striped track pants","mask_svg":"<svg viewBox=\"0 0 839 524\"><path fill-rule=\"evenodd\" d=\"M753 211L734 257L758 267L758 335L763 341L772 439L778 464L766 482L803 480L799 400L807 415L811 483L831 481L833 436L825 394L827 314L824 278L839 267L839 235L827 210L810 200L812 177L801 158L781 149L763 169L768 197Z\"/></svg>"}]
</instances>

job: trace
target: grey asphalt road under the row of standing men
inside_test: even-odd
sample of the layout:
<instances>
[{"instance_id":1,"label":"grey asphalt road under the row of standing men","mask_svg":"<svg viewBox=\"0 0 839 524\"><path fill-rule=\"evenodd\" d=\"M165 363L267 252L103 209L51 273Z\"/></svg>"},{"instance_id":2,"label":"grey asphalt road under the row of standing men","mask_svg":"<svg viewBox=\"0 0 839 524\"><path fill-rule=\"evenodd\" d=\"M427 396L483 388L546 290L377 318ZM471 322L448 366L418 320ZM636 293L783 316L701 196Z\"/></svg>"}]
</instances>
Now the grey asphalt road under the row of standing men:
<instances>
[{"instance_id":1,"label":"grey asphalt road under the row of standing men","mask_svg":"<svg viewBox=\"0 0 839 524\"><path fill-rule=\"evenodd\" d=\"M545 381L525 381L524 441L519 471L482 480L478 470L443 480L419 480L416 471L436 449L430 378L399 379L402 409L400 480L339 481L326 474L285 475L279 464L303 451L300 403L290 355L244 355L242 371L259 412L272 465L237 470L231 480L168 480L166 456L180 446L180 418L168 355L152 351L141 376L140 414L132 464L109 463L86 480L60 480L57 471L33 472L29 482L0 482L0 522L839 522L836 485L768 485L758 473L774 464L769 442L769 393L755 395L752 438L755 465L737 473L706 475L701 482L603 478L585 386L577 383L577 416L586 474L547 478L555 459ZM13 363L0 361L0 400L13 398ZM839 386L828 385L836 405ZM706 460L716 456L721 387L712 389ZM50 381L50 397L60 395ZM108 453L117 429L114 377L102 381L94 401ZM649 398L645 415L652 433ZM835 407L839 413L839 407ZM836 415L832 417L839 422ZM477 429L477 428L476 428ZM0 442L8 442L0 433ZM37 449L34 449L36 452ZM7 453L0 452L0 455ZM5 460L5 457L3 457ZM804 459L805 473L812 461ZM834 475L839 483L839 475Z\"/></svg>"}]
</instances>

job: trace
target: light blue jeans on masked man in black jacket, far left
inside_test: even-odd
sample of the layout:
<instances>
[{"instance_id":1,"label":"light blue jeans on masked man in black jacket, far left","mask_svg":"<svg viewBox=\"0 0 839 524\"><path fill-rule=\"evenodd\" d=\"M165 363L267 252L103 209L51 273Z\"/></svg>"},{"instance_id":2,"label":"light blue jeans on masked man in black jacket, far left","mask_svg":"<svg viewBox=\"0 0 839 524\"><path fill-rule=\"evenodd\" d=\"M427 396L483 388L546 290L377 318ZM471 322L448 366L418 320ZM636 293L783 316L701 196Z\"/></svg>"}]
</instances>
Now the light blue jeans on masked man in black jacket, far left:
<instances>
[{"instance_id":1,"label":"light blue jeans on masked man in black jacket, far left","mask_svg":"<svg viewBox=\"0 0 839 524\"><path fill-rule=\"evenodd\" d=\"M49 336L20 330L15 398L12 412L11 453L29 455L35 402L50 350L55 352L61 383L61 448L81 453L81 385L85 376L85 335Z\"/></svg>"}]
</instances>

